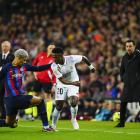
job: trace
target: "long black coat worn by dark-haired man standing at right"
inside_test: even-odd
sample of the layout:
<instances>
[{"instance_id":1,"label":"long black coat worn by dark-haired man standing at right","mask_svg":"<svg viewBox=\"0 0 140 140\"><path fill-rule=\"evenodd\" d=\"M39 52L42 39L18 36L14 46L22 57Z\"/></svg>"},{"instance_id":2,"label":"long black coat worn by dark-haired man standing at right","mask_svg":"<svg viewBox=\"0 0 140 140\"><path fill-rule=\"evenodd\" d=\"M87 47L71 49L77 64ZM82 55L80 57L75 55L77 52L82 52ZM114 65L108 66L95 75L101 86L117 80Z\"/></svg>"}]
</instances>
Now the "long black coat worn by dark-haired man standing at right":
<instances>
[{"instance_id":1,"label":"long black coat worn by dark-haired man standing at right","mask_svg":"<svg viewBox=\"0 0 140 140\"><path fill-rule=\"evenodd\" d=\"M122 58L120 76L124 82L121 96L123 102L140 102L140 51L135 50L132 58L128 53Z\"/></svg>"}]
</instances>

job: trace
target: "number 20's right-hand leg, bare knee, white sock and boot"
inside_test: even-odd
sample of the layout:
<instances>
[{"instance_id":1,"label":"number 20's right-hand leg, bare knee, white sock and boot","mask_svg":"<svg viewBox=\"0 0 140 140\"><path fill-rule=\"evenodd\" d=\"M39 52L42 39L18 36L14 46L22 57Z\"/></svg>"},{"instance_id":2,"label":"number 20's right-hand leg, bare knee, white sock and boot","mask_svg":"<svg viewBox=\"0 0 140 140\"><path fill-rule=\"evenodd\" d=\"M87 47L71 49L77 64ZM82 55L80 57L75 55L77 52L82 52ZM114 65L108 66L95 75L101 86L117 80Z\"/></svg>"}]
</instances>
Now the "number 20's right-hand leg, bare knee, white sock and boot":
<instances>
[{"instance_id":1,"label":"number 20's right-hand leg, bare knee, white sock and boot","mask_svg":"<svg viewBox=\"0 0 140 140\"><path fill-rule=\"evenodd\" d=\"M77 96L70 96L70 103L71 103L71 122L75 130L79 129L79 125L76 120L77 111L78 111L78 97Z\"/></svg>"}]
</instances>

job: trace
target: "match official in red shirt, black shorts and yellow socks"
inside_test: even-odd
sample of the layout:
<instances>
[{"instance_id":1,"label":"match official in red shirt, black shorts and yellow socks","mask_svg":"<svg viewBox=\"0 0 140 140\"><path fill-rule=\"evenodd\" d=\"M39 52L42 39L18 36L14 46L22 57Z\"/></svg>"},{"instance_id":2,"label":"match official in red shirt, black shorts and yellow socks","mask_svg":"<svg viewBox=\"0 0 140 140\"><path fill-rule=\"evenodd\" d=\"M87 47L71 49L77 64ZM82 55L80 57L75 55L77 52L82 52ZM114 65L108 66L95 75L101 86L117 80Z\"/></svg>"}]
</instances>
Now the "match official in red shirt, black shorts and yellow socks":
<instances>
[{"instance_id":1,"label":"match official in red shirt, black shorts and yellow socks","mask_svg":"<svg viewBox=\"0 0 140 140\"><path fill-rule=\"evenodd\" d=\"M55 45L51 43L47 47L47 52L42 52L40 53L36 59L33 61L32 65L33 66L41 66L45 64L50 64L53 61L52 58L52 50L55 48ZM54 77L54 84L52 87L52 70L47 69L42 72L34 72L35 76L35 83L33 87L34 95L39 96L39 92L41 91L41 88L43 87L45 91L45 100L46 100L46 109L47 109L47 116L48 116L48 121L50 121L52 109L53 109L53 103L51 101L51 88L52 92L55 92L55 87L56 87L56 77ZM37 110L36 110L37 111Z\"/></svg>"}]
</instances>

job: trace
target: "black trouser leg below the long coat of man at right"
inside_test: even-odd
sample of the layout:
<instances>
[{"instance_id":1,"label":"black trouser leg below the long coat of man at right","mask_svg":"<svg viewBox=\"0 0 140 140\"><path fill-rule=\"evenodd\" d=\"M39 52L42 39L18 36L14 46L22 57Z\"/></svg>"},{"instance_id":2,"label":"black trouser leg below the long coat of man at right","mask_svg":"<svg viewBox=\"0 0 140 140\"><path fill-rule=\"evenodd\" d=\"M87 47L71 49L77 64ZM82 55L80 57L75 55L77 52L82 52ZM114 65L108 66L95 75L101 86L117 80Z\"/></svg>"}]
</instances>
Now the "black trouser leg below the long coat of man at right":
<instances>
[{"instance_id":1,"label":"black trouser leg below the long coat of man at right","mask_svg":"<svg viewBox=\"0 0 140 140\"><path fill-rule=\"evenodd\" d=\"M126 114L126 106L127 102L121 102L121 109L120 109L120 123L125 123L125 114Z\"/></svg>"}]
</instances>

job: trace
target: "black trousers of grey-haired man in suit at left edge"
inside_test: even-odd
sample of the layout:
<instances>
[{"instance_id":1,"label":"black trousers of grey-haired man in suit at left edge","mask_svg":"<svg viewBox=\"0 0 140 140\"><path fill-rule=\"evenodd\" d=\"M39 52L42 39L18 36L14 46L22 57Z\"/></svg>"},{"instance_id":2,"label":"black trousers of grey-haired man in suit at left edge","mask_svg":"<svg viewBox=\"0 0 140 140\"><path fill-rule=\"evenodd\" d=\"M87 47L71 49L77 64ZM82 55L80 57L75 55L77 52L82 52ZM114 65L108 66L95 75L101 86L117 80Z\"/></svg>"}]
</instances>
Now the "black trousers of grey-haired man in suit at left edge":
<instances>
[{"instance_id":1,"label":"black trousers of grey-haired man in suit at left edge","mask_svg":"<svg viewBox=\"0 0 140 140\"><path fill-rule=\"evenodd\" d=\"M6 118L5 107L4 107L4 94L5 94L5 86L4 80L0 80L0 112L1 112L1 119Z\"/></svg>"}]
</instances>

